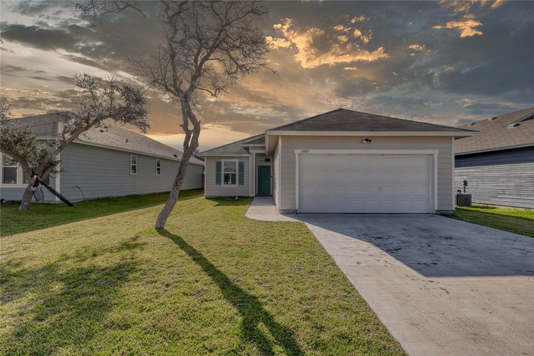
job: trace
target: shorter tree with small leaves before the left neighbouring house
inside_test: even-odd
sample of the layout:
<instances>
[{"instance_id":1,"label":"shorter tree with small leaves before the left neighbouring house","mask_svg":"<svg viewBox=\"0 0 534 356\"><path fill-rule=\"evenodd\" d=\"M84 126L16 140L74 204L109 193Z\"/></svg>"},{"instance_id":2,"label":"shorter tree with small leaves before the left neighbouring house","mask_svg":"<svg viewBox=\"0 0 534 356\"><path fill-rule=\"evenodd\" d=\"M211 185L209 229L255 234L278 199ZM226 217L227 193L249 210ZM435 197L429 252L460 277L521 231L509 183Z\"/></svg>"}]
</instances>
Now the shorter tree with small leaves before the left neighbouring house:
<instances>
[{"instance_id":1,"label":"shorter tree with small leaves before the left neighbouring house","mask_svg":"<svg viewBox=\"0 0 534 356\"><path fill-rule=\"evenodd\" d=\"M81 91L74 100L74 110L57 113L61 117L62 129L56 137L40 139L31 126L10 118L9 106L5 102L0 108L0 152L21 166L29 182L19 210L28 209L32 201L32 170L41 180L50 173L57 173L57 165L61 162L57 156L85 131L98 127L107 119L136 126L143 132L150 128L144 89L129 81L102 80L83 73L73 78Z\"/></svg>"}]
</instances>

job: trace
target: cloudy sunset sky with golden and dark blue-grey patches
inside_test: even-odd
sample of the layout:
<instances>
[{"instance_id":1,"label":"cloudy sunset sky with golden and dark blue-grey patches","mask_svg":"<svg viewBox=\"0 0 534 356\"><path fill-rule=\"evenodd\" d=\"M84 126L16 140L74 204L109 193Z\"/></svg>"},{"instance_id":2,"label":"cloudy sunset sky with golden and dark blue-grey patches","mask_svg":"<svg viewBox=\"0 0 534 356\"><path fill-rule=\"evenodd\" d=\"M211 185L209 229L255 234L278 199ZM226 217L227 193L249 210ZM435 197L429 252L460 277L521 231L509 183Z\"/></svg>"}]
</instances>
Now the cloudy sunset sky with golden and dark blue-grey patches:
<instances>
[{"instance_id":1,"label":"cloudy sunset sky with golden and dark blue-grey patches","mask_svg":"<svg viewBox=\"0 0 534 356\"><path fill-rule=\"evenodd\" d=\"M162 40L126 11L88 29L76 2L2 1L1 87L15 116L68 109L77 72L130 77ZM203 100L201 149L343 107L457 126L534 106L534 2L268 2L259 26L277 74ZM176 108L151 92L148 136L180 148Z\"/></svg>"}]
</instances>

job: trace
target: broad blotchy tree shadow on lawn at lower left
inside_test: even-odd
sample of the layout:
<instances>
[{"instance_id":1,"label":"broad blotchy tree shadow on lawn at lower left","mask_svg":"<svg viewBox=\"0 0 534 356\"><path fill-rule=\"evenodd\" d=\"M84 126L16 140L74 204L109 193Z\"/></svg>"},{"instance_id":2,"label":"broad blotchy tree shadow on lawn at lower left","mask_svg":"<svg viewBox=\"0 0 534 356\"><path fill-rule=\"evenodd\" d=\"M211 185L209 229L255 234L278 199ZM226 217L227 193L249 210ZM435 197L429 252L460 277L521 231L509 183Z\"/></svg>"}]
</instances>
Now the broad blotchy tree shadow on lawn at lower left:
<instances>
[{"instance_id":1,"label":"broad blotchy tree shadow on lawn at lower left","mask_svg":"<svg viewBox=\"0 0 534 356\"><path fill-rule=\"evenodd\" d=\"M101 254L133 252L143 245L135 240ZM102 265L92 263L88 249L81 265L80 252L34 268L3 263L2 318L9 328L0 354L93 353L101 331L129 328L128 321L107 317L128 275L137 270L135 258Z\"/></svg>"}]
</instances>

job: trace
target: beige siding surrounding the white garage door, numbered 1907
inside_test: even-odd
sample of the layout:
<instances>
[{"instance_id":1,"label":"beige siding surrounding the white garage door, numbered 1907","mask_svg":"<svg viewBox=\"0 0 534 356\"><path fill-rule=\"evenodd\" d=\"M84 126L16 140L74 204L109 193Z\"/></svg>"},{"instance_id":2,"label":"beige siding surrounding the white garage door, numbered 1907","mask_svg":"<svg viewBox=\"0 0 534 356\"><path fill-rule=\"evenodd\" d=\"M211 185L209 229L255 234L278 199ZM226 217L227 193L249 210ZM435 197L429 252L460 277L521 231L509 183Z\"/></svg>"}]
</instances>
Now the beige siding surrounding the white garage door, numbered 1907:
<instances>
[{"instance_id":1,"label":"beige siding surrounding the white garage door, numbered 1907","mask_svg":"<svg viewBox=\"0 0 534 356\"><path fill-rule=\"evenodd\" d=\"M372 144L364 145L365 137L354 136L284 136L281 149L281 210L295 210L295 149L437 149L437 210L453 210L452 205L452 143L444 136L370 136Z\"/></svg>"}]
</instances>

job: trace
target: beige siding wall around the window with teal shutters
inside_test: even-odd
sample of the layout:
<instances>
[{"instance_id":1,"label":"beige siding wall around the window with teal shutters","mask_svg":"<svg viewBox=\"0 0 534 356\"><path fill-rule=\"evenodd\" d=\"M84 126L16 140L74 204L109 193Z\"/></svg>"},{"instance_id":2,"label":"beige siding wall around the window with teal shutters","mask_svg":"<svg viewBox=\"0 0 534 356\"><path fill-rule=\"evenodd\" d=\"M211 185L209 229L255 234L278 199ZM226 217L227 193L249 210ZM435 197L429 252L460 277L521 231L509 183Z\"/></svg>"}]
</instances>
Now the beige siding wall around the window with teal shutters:
<instances>
[{"instance_id":1,"label":"beige siding wall around the window with teal shutters","mask_svg":"<svg viewBox=\"0 0 534 356\"><path fill-rule=\"evenodd\" d=\"M215 162L223 160L238 160L245 162L245 184L235 186L223 186L215 184ZM206 157L206 181L204 194L206 196L249 196L249 156L217 156ZM239 165L238 165L239 167ZM238 175L239 176L239 175Z\"/></svg>"}]
</instances>

